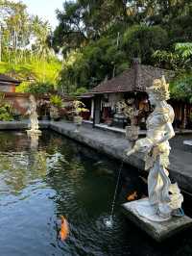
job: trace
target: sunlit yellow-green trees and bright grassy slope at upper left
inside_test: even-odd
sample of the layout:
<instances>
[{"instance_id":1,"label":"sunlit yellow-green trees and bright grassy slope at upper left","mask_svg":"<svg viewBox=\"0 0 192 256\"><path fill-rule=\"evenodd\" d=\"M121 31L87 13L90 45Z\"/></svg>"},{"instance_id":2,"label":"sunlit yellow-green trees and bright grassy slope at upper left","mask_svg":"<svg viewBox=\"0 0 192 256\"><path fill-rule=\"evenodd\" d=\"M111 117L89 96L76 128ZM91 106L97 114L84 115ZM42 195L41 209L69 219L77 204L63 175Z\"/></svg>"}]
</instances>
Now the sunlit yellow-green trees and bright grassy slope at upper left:
<instances>
[{"instance_id":1,"label":"sunlit yellow-green trees and bright grassy slope at upper left","mask_svg":"<svg viewBox=\"0 0 192 256\"><path fill-rule=\"evenodd\" d=\"M0 0L0 72L24 81L18 91L41 93L57 87L60 68L49 23L22 2Z\"/></svg>"}]
</instances>

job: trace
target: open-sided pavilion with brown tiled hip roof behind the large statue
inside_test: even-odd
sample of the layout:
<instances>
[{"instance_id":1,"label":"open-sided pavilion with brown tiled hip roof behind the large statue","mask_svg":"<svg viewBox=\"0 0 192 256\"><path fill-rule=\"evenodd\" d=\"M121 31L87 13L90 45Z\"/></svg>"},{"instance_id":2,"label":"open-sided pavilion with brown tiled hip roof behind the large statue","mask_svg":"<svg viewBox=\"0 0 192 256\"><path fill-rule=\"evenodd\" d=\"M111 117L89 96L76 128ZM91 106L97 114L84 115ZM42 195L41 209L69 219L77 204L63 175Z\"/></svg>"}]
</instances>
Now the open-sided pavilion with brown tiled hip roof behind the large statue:
<instances>
[{"instance_id":1,"label":"open-sided pavilion with brown tiled hip roof behind the large statue","mask_svg":"<svg viewBox=\"0 0 192 256\"><path fill-rule=\"evenodd\" d=\"M142 111L145 113L145 118L141 119L141 121L145 122L150 111L146 88L152 86L153 81L161 78L162 75L165 76L166 81L169 83L174 78L175 72L140 64L140 59L133 59L130 69L125 70L116 77L103 81L81 96L84 104L90 109L90 115L85 116L85 118L91 119L93 125L99 123L112 125L117 102L131 100L140 113ZM186 106L185 103L172 99L169 103L175 110L175 120L180 121L180 124L184 126L187 112L191 111L191 106Z\"/></svg>"}]
</instances>

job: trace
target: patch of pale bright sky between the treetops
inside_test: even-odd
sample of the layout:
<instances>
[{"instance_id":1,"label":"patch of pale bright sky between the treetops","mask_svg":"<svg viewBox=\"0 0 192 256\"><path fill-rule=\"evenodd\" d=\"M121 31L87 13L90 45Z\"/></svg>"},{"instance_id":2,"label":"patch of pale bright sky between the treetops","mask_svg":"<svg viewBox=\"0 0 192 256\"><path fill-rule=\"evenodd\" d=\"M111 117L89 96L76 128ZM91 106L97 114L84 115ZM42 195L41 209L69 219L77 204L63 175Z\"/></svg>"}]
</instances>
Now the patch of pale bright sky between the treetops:
<instances>
[{"instance_id":1,"label":"patch of pale bright sky between the treetops","mask_svg":"<svg viewBox=\"0 0 192 256\"><path fill-rule=\"evenodd\" d=\"M14 2L19 2L14 0ZM55 11L62 10L64 0L21 0L27 7L28 13L38 15L48 20L53 29L58 25Z\"/></svg>"}]
</instances>

